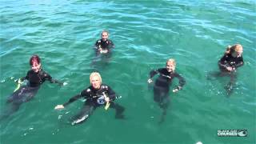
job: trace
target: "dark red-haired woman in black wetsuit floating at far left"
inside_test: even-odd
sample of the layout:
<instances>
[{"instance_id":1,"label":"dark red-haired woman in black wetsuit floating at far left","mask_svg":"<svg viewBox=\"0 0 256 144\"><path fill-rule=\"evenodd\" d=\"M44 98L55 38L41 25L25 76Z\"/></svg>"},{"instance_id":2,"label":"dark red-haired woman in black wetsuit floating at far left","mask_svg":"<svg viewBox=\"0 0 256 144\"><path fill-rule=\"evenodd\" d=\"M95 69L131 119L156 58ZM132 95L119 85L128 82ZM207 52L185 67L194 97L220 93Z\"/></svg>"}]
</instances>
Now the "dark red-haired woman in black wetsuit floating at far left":
<instances>
[{"instance_id":1,"label":"dark red-haired woman in black wetsuit floating at far left","mask_svg":"<svg viewBox=\"0 0 256 144\"><path fill-rule=\"evenodd\" d=\"M12 107L9 111L5 112L5 114L2 114L2 118L8 117L10 114L17 111L23 102L28 102L30 99L34 98L34 95L37 94L40 85L42 85L43 82L50 81L62 85L62 82L58 82L51 78L50 74L47 74L42 70L38 55L33 55L30 58L30 66L31 70L27 72L26 77L21 78L21 81L28 81L27 85L21 86L18 90L14 91L9 98L7 98L7 103L12 103Z\"/></svg>"}]
</instances>

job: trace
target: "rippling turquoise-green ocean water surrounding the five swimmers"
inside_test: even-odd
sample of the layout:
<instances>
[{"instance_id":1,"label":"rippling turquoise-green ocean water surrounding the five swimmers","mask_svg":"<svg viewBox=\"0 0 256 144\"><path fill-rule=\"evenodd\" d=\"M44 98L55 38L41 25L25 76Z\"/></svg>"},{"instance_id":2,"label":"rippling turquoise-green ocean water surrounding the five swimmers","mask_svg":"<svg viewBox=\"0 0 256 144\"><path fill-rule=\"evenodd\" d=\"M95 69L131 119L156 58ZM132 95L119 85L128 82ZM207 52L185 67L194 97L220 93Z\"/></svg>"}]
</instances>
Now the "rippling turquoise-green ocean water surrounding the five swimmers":
<instances>
[{"instance_id":1,"label":"rippling turquoise-green ocean water surrounding the five swimmers","mask_svg":"<svg viewBox=\"0 0 256 144\"><path fill-rule=\"evenodd\" d=\"M0 108L26 75L32 54L43 69L68 82L60 87L45 82L30 102L0 122L1 144L203 144L256 143L255 1L77 0L0 2ZM116 45L110 59L95 58L92 46L102 30ZM230 98L229 78L206 80L218 71L227 45L241 43L245 65L238 70ZM184 89L170 92L166 121L147 84L150 70L175 58ZM94 62L93 62L94 61ZM56 111L90 85L98 70L103 82L122 98L125 120L114 110L99 108L82 125L70 126L82 101ZM178 84L174 80L171 88ZM218 137L217 130L246 129L247 137Z\"/></svg>"}]
</instances>

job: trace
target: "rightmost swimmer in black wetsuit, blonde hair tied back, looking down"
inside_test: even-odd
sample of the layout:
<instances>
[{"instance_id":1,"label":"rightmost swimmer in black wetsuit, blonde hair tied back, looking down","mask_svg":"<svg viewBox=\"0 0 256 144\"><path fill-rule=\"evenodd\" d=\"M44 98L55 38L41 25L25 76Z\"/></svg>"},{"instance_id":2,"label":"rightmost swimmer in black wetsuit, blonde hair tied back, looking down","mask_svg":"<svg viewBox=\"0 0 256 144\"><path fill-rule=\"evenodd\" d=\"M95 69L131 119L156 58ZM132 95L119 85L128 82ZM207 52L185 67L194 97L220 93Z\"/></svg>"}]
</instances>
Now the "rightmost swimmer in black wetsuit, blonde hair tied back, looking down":
<instances>
[{"instance_id":1,"label":"rightmost swimmer in black wetsuit, blonde hair tied back, looking down","mask_svg":"<svg viewBox=\"0 0 256 144\"><path fill-rule=\"evenodd\" d=\"M233 92L233 87L236 80L236 70L243 66L242 45L235 44L228 46L226 53L218 61L220 72L213 74L215 77L229 76L230 82L225 86L228 96Z\"/></svg>"}]
</instances>

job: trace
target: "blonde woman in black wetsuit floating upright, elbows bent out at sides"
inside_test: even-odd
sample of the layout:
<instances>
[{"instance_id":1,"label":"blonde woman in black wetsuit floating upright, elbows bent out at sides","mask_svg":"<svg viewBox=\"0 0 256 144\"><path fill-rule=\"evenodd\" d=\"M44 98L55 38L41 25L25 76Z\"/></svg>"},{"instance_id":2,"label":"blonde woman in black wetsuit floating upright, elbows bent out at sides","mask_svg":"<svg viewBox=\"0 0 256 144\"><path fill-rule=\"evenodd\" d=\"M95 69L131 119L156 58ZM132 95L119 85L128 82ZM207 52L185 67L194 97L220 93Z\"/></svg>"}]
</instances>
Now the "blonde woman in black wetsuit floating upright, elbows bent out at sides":
<instances>
[{"instance_id":1,"label":"blonde woman in black wetsuit floating upright, elbows bent out at sides","mask_svg":"<svg viewBox=\"0 0 256 144\"><path fill-rule=\"evenodd\" d=\"M186 83L185 79L174 71L175 66L175 60L169 59L166 62L166 68L150 71L150 78L148 79L149 83L153 82L151 78L153 78L155 74L159 74L158 79L154 83L154 102L158 102L158 105L163 110L162 119L160 122L164 121L166 109L168 108L170 103L169 90L173 78L178 78L179 80L179 86L174 88L174 93L178 90L182 90L182 86L184 86Z\"/></svg>"}]
</instances>

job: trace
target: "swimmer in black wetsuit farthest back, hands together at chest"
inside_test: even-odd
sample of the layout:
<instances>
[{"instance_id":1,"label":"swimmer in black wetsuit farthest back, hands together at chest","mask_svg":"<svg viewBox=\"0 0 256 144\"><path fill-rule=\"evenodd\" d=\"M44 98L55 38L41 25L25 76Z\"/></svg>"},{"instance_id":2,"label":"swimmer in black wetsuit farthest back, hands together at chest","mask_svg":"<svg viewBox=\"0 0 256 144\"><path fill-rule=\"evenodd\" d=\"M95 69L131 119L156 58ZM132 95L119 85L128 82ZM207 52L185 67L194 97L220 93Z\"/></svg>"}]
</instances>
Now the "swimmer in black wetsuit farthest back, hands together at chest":
<instances>
[{"instance_id":1,"label":"swimmer in black wetsuit farthest back, hands together at chest","mask_svg":"<svg viewBox=\"0 0 256 144\"><path fill-rule=\"evenodd\" d=\"M95 50L96 54L109 54L110 50L114 48L114 43L108 39L109 33L106 30L102 31L102 39L98 39L97 42L95 42Z\"/></svg>"}]
</instances>

